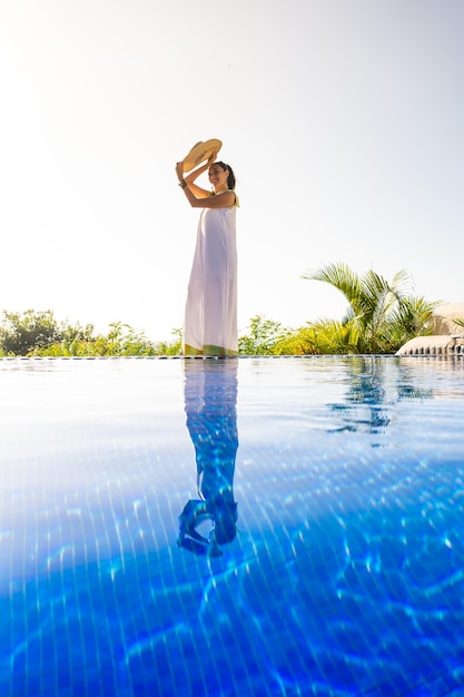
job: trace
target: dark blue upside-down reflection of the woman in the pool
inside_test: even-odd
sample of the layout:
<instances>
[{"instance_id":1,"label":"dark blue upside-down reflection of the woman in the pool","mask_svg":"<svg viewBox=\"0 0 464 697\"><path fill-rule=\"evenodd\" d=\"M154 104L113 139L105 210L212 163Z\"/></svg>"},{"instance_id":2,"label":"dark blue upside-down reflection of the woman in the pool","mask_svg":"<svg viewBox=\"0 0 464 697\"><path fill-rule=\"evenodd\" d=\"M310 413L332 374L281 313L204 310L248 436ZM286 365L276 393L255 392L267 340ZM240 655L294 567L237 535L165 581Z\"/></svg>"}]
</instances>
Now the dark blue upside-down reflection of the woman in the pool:
<instances>
[{"instance_id":1,"label":"dark blue upside-down reflection of the woman in the pool","mask_svg":"<svg viewBox=\"0 0 464 697\"><path fill-rule=\"evenodd\" d=\"M236 536L234 501L237 434L237 361L186 361L185 409L195 445L199 499L190 499L179 517L177 543L197 554L219 556L219 546ZM203 523L213 524L209 537Z\"/></svg>"}]
</instances>

